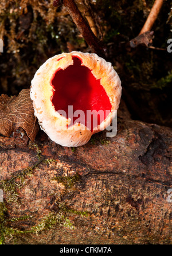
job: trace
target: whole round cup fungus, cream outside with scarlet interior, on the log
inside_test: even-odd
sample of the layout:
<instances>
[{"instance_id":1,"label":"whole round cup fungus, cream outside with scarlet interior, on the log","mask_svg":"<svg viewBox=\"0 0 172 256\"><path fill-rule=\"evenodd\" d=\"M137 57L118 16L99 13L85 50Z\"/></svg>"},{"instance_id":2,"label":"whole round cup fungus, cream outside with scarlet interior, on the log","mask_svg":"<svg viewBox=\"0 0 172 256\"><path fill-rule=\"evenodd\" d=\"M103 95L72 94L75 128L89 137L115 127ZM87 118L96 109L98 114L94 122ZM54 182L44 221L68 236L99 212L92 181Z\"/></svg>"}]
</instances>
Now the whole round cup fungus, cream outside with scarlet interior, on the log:
<instances>
[{"instance_id":1,"label":"whole round cup fungus, cream outside with scarlet interior, on the log","mask_svg":"<svg viewBox=\"0 0 172 256\"><path fill-rule=\"evenodd\" d=\"M121 94L120 78L110 62L77 51L48 59L36 72L30 90L41 129L62 146L84 145L92 134L110 126ZM68 106L83 111L85 119L72 119ZM97 126L87 123L86 112L99 110L104 111L104 118L97 115Z\"/></svg>"}]
</instances>

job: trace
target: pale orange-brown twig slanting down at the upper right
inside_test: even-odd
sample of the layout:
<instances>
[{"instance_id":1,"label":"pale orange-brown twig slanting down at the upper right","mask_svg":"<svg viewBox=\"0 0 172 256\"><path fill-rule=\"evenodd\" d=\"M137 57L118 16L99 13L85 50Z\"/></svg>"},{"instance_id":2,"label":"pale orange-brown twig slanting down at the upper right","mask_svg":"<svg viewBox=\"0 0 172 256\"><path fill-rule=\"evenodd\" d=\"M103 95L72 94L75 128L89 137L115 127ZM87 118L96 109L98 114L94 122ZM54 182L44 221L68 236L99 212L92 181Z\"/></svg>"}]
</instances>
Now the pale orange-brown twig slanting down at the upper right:
<instances>
[{"instance_id":1,"label":"pale orange-brown twig slanting down at the upper right","mask_svg":"<svg viewBox=\"0 0 172 256\"><path fill-rule=\"evenodd\" d=\"M155 0L155 3L151 9L151 12L150 12L149 16L147 17L147 20L146 20L142 30L140 31L139 35L142 35L143 33L147 32L147 31L151 31L151 28L153 27L155 20L157 20L157 17L161 10L162 5L163 5L163 0Z\"/></svg>"}]
</instances>

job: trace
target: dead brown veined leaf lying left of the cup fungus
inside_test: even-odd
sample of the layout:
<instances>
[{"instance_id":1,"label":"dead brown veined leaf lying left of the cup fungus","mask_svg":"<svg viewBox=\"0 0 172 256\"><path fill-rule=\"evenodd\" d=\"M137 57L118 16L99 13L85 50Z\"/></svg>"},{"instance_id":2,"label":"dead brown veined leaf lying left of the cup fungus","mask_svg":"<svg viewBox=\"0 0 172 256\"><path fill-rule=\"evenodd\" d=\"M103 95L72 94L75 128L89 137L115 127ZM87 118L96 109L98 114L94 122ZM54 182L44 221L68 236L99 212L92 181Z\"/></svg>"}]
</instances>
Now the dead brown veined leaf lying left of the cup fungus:
<instances>
[{"instance_id":1,"label":"dead brown veined leaf lying left of the cup fungus","mask_svg":"<svg viewBox=\"0 0 172 256\"><path fill-rule=\"evenodd\" d=\"M34 141L39 126L34 116L30 89L22 90L17 97L0 96L0 133L9 137L19 127Z\"/></svg>"}]
</instances>

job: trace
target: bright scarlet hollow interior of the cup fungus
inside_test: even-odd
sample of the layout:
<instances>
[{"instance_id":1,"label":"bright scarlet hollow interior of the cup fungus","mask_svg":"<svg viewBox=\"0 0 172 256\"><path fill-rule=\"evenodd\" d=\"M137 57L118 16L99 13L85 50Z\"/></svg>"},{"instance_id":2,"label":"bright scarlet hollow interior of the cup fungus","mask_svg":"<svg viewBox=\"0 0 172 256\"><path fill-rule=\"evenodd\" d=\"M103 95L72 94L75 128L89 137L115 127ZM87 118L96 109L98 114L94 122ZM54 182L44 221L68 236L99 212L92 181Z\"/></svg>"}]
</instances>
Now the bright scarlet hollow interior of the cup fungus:
<instances>
[{"instance_id":1,"label":"bright scarlet hollow interior of the cup fungus","mask_svg":"<svg viewBox=\"0 0 172 256\"><path fill-rule=\"evenodd\" d=\"M100 84L100 80L97 80L91 70L88 67L81 66L81 60L78 57L73 57L73 65L67 67L67 69L58 69L50 84L54 88L52 103L56 111L64 110L67 113L67 118L71 118L73 123L80 115L75 117L71 116L76 110L84 111L84 119L81 119L80 123L87 126L90 130L95 128L93 119L96 118L97 125L107 118L111 111L110 99L107 96L103 86ZM68 106L73 106L73 112L68 112ZM103 115L92 115L91 121L87 118L87 110L103 110Z\"/></svg>"}]
</instances>

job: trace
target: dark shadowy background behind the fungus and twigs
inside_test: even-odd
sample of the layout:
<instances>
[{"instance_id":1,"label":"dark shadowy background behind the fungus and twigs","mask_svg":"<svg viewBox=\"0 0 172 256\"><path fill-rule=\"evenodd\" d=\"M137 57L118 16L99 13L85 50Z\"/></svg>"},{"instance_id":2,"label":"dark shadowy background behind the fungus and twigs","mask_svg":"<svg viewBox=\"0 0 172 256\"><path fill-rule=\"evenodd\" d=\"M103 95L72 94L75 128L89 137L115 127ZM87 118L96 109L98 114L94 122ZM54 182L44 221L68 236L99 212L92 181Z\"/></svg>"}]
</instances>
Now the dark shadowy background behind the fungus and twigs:
<instances>
[{"instance_id":1,"label":"dark shadowy background behind the fungus and twigs","mask_svg":"<svg viewBox=\"0 0 172 256\"><path fill-rule=\"evenodd\" d=\"M142 29L154 1L82 1L76 2L89 6L98 36L108 48L107 59L122 80L122 99L132 118L172 127L172 53L166 50L172 38L167 23L171 1L165 1L153 27L153 46L165 50L131 48L129 43ZM18 95L29 88L36 70L53 55L91 52L65 7L52 2L1 1L0 38L5 47L0 55L0 94Z\"/></svg>"}]
</instances>

